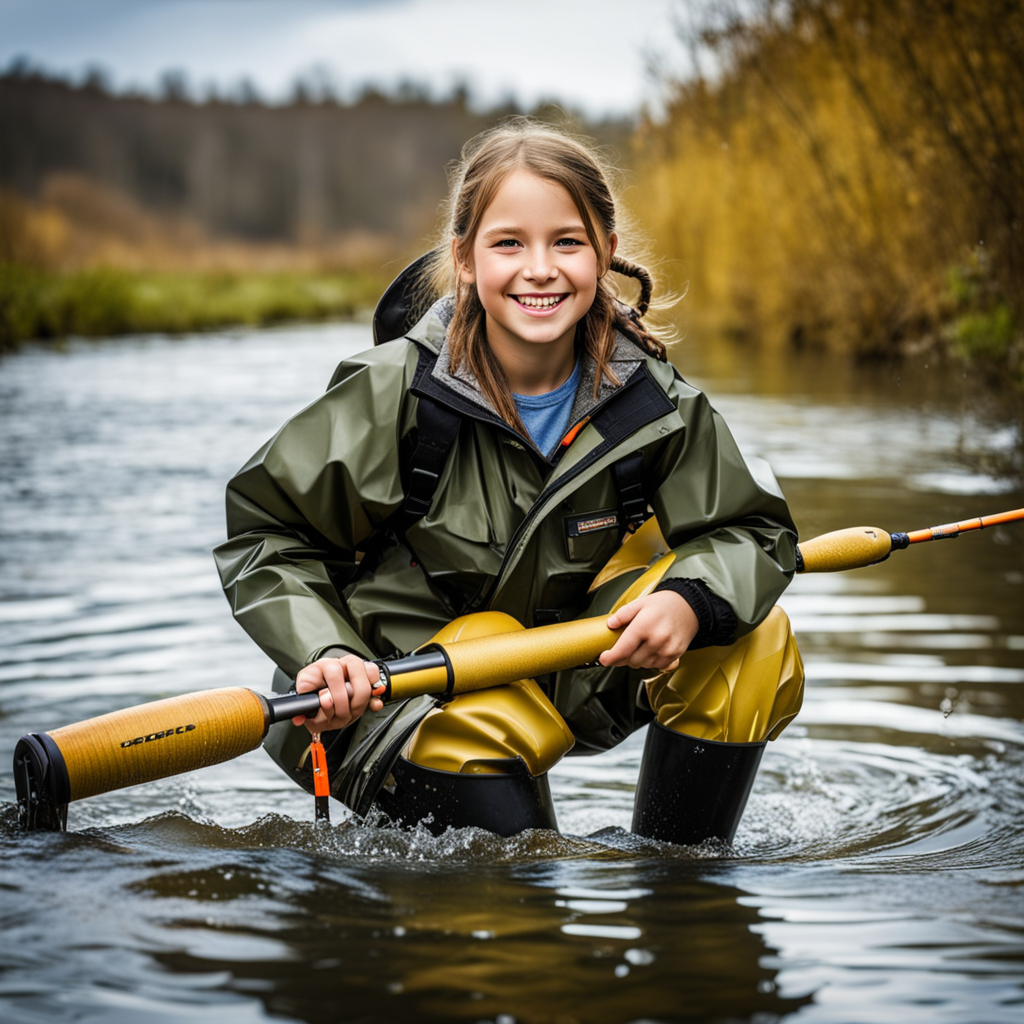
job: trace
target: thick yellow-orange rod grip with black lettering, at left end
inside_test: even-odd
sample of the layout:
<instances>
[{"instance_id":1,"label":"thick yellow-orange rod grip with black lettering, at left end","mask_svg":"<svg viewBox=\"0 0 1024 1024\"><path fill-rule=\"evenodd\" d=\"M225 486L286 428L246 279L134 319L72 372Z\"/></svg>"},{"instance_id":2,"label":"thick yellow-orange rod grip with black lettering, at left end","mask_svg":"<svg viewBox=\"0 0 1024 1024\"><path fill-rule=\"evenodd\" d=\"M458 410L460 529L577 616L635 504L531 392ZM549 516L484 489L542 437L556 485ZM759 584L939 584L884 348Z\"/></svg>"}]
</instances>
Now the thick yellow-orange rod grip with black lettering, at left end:
<instances>
[{"instance_id":1,"label":"thick yellow-orange rod grip with black lettering, at left end","mask_svg":"<svg viewBox=\"0 0 1024 1024\"><path fill-rule=\"evenodd\" d=\"M255 750L266 703L231 687L112 712L49 733L63 758L72 800L229 761Z\"/></svg>"}]
</instances>

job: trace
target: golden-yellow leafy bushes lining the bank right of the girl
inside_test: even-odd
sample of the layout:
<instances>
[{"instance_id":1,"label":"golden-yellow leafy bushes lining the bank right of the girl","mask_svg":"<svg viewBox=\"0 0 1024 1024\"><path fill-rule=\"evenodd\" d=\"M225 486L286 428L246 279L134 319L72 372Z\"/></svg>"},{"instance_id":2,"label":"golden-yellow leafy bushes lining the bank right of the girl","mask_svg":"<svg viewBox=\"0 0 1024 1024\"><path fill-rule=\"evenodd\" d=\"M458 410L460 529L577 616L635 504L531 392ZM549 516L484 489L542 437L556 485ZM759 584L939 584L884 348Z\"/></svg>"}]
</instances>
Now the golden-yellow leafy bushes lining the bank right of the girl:
<instances>
[{"instance_id":1,"label":"golden-yellow leafy bushes lining the bank right of the girl","mask_svg":"<svg viewBox=\"0 0 1024 1024\"><path fill-rule=\"evenodd\" d=\"M1024 7L699 10L698 73L636 155L691 316L776 345L936 345L1024 380Z\"/></svg>"}]
</instances>

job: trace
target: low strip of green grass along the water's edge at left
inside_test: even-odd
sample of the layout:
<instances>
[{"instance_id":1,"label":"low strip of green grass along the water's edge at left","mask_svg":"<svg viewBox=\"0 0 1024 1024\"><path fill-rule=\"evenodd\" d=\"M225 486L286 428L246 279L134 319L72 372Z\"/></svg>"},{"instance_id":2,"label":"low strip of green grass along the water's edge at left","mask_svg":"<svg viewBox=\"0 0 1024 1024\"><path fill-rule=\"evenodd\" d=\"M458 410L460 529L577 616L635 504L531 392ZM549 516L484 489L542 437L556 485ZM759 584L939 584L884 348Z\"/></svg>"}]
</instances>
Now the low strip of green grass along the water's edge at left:
<instances>
[{"instance_id":1,"label":"low strip of green grass along the water's edge at left","mask_svg":"<svg viewBox=\"0 0 1024 1024\"><path fill-rule=\"evenodd\" d=\"M0 351L30 339L181 334L352 316L385 275L272 270L52 270L0 264Z\"/></svg>"}]
</instances>

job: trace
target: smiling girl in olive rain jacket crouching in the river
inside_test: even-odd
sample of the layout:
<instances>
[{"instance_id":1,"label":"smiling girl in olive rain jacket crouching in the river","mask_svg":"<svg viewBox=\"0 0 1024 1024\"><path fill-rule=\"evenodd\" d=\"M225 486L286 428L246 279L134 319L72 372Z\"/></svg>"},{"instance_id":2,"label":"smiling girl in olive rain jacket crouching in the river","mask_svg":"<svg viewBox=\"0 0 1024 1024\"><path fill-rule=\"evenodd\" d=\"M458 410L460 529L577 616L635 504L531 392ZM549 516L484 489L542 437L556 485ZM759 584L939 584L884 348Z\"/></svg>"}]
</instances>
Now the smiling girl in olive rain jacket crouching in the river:
<instances>
[{"instance_id":1,"label":"smiling girl in olive rain jacket crouching in the river","mask_svg":"<svg viewBox=\"0 0 1024 1024\"><path fill-rule=\"evenodd\" d=\"M715 755L699 761L714 760L712 788L749 791L764 735L742 744L757 748L753 768L745 750L737 768L721 742L729 700L706 699L719 710L694 724L681 679L695 655L677 667L708 648L705 675L721 675L722 646L765 620L792 575L796 530L770 474L755 477L666 361L643 319L650 276L618 248L606 175L584 144L529 122L472 140L443 241L385 294L377 347L344 361L228 486L216 558L234 615L282 670L275 689L294 679L319 691L305 725L333 734L332 792L357 813L376 804L399 821L504 835L554 827L551 765L656 715L636 827L731 839L738 813L693 831L709 814L673 759L692 762L694 740L710 740L696 753ZM639 282L637 308L615 297L615 275ZM599 666L446 703L374 696L370 659L470 611L526 626L606 613L658 548L671 565L610 614L622 634ZM799 658L772 623L768 709L780 689L794 710ZM305 730L275 726L266 745L309 786ZM643 824L648 805L660 824Z\"/></svg>"}]
</instances>

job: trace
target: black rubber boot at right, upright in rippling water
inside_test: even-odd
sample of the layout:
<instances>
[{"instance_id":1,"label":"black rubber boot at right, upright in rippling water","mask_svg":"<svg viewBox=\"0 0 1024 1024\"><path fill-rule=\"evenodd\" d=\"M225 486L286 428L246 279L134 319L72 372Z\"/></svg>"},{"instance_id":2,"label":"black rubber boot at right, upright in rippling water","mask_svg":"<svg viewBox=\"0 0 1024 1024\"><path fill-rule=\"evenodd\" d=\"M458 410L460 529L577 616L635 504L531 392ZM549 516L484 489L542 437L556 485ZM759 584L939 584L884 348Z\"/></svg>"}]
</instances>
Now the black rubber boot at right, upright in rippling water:
<instances>
[{"instance_id":1,"label":"black rubber boot at right, upright in rippling water","mask_svg":"<svg viewBox=\"0 0 1024 1024\"><path fill-rule=\"evenodd\" d=\"M633 806L633 831L692 846L732 842L765 744L694 739L651 722Z\"/></svg>"}]
</instances>

